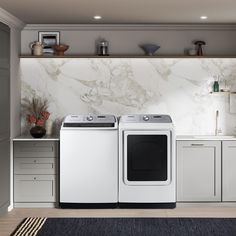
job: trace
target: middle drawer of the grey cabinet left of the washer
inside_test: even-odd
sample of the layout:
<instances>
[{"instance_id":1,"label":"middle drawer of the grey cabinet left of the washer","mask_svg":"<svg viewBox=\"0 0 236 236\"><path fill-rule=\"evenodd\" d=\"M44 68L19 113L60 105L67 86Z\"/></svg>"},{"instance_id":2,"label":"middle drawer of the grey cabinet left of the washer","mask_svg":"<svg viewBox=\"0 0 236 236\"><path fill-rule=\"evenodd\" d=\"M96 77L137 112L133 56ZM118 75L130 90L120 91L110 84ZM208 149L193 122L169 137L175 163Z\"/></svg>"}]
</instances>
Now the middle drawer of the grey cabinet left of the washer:
<instances>
[{"instance_id":1,"label":"middle drawer of the grey cabinet left of the washer","mask_svg":"<svg viewBox=\"0 0 236 236\"><path fill-rule=\"evenodd\" d=\"M56 174L55 158L15 158L15 174Z\"/></svg>"}]
</instances>

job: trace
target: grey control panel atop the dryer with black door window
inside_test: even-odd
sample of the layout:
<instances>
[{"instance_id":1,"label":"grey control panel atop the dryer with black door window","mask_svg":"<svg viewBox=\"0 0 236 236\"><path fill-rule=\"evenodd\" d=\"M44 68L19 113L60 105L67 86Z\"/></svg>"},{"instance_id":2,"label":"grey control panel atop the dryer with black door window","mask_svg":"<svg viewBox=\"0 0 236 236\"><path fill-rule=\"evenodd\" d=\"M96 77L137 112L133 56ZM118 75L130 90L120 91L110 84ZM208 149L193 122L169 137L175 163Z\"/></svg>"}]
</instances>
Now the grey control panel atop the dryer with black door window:
<instances>
[{"instance_id":1,"label":"grey control panel atop the dryer with black door window","mask_svg":"<svg viewBox=\"0 0 236 236\"><path fill-rule=\"evenodd\" d=\"M121 116L120 123L172 123L172 120L169 115L124 115Z\"/></svg>"}]
</instances>

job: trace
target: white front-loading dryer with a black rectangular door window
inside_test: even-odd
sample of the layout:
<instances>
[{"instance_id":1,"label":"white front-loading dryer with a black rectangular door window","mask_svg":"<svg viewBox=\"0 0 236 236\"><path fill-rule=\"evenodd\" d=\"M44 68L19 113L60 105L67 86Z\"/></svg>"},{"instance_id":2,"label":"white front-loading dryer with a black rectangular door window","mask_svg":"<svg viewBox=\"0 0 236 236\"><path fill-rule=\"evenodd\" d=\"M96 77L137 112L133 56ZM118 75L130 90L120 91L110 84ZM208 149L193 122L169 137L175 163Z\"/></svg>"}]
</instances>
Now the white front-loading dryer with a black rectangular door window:
<instances>
[{"instance_id":1,"label":"white front-loading dryer with a black rectangular door window","mask_svg":"<svg viewBox=\"0 0 236 236\"><path fill-rule=\"evenodd\" d=\"M121 116L119 206L176 206L175 135L170 116Z\"/></svg>"}]
</instances>

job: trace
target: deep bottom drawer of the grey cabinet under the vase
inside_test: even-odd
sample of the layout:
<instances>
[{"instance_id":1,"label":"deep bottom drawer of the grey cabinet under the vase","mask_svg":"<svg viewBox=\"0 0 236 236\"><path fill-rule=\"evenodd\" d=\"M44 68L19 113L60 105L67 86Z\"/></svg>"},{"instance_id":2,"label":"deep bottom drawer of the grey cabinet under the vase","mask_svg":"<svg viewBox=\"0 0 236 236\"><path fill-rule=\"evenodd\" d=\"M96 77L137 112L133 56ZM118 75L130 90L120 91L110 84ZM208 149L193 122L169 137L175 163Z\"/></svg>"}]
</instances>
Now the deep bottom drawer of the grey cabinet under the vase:
<instances>
[{"instance_id":1,"label":"deep bottom drawer of the grey cabinet under the vase","mask_svg":"<svg viewBox=\"0 0 236 236\"><path fill-rule=\"evenodd\" d=\"M55 175L14 175L15 202L55 202Z\"/></svg>"}]
</instances>

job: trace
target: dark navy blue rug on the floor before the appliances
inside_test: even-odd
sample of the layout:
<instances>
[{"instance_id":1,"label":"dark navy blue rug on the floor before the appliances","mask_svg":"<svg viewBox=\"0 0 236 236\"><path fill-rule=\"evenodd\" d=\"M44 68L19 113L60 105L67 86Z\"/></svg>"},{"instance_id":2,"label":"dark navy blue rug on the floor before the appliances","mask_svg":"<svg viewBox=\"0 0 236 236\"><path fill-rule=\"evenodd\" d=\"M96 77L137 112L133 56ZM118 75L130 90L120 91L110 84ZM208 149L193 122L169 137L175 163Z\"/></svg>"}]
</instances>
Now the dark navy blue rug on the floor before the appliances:
<instances>
[{"instance_id":1,"label":"dark navy blue rug on the floor before the appliances","mask_svg":"<svg viewBox=\"0 0 236 236\"><path fill-rule=\"evenodd\" d=\"M236 236L236 218L47 218L36 235Z\"/></svg>"}]
</instances>

